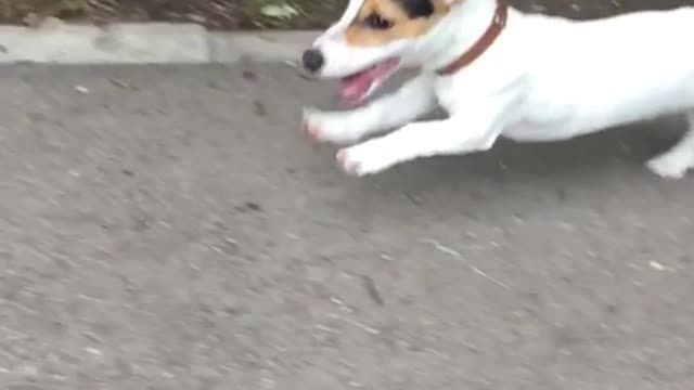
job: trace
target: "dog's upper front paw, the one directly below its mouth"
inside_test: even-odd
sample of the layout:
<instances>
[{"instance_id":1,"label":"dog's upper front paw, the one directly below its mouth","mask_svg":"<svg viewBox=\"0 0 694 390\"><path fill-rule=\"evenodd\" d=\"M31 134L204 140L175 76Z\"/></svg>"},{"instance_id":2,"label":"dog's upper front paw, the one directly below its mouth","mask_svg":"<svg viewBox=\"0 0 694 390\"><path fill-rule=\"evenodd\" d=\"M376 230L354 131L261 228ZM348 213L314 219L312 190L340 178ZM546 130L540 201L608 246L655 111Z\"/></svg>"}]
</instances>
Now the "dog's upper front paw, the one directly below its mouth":
<instances>
[{"instance_id":1,"label":"dog's upper front paw, the one directly below its mouth","mask_svg":"<svg viewBox=\"0 0 694 390\"><path fill-rule=\"evenodd\" d=\"M354 121L354 115L349 113L305 108L301 131L313 142L346 144L361 136L358 125Z\"/></svg>"}]
</instances>

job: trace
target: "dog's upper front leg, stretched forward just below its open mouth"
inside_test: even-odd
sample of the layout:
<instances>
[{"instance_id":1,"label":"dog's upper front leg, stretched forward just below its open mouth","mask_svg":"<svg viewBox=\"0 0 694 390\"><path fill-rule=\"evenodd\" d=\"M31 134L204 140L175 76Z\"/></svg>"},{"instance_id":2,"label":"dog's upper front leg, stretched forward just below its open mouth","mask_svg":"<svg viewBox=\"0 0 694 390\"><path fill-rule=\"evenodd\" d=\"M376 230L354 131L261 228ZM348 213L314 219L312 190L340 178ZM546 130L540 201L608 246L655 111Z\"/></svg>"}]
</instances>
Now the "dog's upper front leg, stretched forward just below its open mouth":
<instances>
[{"instance_id":1,"label":"dog's upper front leg, stretched forward just below its open mouth","mask_svg":"<svg viewBox=\"0 0 694 390\"><path fill-rule=\"evenodd\" d=\"M402 126L432 110L436 104L430 75L420 75L397 91L346 112L304 112L304 131L319 142L351 143Z\"/></svg>"}]
</instances>

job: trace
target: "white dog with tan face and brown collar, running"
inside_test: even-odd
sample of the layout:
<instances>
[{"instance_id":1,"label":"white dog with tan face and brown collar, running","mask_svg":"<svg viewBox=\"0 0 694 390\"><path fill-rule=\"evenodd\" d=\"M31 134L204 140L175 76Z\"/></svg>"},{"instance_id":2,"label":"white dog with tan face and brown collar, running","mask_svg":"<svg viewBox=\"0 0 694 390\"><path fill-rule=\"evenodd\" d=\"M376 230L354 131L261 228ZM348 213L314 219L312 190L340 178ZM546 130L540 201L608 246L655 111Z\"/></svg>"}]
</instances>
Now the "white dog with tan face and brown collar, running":
<instances>
[{"instance_id":1,"label":"white dog with tan face and brown collar, running","mask_svg":"<svg viewBox=\"0 0 694 390\"><path fill-rule=\"evenodd\" d=\"M689 131L646 166L680 179L694 167L692 37L686 6L573 21L503 0L349 0L301 63L318 79L338 79L354 107L305 108L303 129L347 144L337 162L361 177L488 151L500 136L560 141L679 113ZM368 102L402 68L419 74ZM446 119L415 121L437 106Z\"/></svg>"}]
</instances>

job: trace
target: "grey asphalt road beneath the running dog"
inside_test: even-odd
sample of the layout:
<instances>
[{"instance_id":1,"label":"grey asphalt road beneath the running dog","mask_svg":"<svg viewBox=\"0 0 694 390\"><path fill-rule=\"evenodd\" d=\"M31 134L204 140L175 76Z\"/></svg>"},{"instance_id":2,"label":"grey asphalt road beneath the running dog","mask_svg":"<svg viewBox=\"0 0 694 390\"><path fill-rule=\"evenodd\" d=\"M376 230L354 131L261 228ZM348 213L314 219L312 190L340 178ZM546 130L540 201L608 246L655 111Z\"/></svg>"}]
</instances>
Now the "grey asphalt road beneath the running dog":
<instances>
[{"instance_id":1,"label":"grey asphalt road beneath the running dog","mask_svg":"<svg viewBox=\"0 0 694 390\"><path fill-rule=\"evenodd\" d=\"M286 65L0 68L0 388L694 388L674 118L367 179Z\"/></svg>"}]
</instances>

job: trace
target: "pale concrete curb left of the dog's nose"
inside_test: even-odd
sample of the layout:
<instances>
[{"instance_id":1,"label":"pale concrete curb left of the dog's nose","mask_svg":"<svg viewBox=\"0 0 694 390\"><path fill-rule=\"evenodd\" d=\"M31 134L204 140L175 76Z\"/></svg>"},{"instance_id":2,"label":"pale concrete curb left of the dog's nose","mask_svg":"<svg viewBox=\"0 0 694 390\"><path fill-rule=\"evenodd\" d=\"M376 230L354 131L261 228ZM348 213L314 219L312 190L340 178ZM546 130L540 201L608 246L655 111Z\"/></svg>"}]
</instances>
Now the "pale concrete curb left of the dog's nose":
<instances>
[{"instance_id":1,"label":"pale concrete curb left of the dog's nose","mask_svg":"<svg viewBox=\"0 0 694 390\"><path fill-rule=\"evenodd\" d=\"M195 24L0 26L0 64L206 64L296 61L319 31L207 31Z\"/></svg>"}]
</instances>

